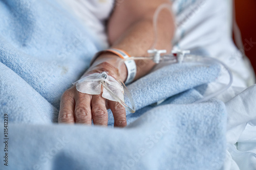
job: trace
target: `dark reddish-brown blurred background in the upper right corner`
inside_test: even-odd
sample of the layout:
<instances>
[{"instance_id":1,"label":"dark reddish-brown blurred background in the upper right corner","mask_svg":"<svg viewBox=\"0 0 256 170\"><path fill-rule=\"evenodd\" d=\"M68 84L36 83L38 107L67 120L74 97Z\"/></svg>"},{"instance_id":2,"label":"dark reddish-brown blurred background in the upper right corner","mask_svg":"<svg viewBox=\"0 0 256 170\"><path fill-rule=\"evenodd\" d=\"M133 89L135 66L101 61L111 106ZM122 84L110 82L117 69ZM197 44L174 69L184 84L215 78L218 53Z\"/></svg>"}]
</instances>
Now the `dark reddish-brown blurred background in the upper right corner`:
<instances>
[{"instance_id":1,"label":"dark reddish-brown blurred background in the upper right corner","mask_svg":"<svg viewBox=\"0 0 256 170\"><path fill-rule=\"evenodd\" d=\"M256 70L256 1L234 0L236 20L240 28L245 55Z\"/></svg>"}]
</instances>

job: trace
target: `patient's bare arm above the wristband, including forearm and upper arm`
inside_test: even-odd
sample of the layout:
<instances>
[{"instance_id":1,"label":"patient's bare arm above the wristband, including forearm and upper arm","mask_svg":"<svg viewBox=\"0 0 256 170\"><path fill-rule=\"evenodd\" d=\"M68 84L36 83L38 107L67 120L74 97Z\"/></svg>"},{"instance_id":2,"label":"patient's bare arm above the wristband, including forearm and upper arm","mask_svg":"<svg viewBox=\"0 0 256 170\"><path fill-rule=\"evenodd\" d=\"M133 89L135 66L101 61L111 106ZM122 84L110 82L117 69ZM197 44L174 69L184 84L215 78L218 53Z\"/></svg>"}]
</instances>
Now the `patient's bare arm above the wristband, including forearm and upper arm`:
<instances>
[{"instance_id":1,"label":"patient's bare arm above the wristband, including forearm and upper arm","mask_svg":"<svg viewBox=\"0 0 256 170\"><path fill-rule=\"evenodd\" d=\"M147 50L154 42L153 15L157 7L163 3L170 4L168 0L150 1L123 1L119 4L108 24L108 37L112 47L122 49L131 56L147 56ZM158 17L158 42L155 48L158 50L171 50L174 34L174 18L167 9L162 10ZM98 57L99 62L106 58L115 58L113 54L104 54ZM115 59L113 59L115 60ZM99 63L96 62L96 63ZM153 61L137 60L137 75L135 80L145 76L155 65ZM127 70L123 64L121 67L121 79L125 81Z\"/></svg>"}]
</instances>

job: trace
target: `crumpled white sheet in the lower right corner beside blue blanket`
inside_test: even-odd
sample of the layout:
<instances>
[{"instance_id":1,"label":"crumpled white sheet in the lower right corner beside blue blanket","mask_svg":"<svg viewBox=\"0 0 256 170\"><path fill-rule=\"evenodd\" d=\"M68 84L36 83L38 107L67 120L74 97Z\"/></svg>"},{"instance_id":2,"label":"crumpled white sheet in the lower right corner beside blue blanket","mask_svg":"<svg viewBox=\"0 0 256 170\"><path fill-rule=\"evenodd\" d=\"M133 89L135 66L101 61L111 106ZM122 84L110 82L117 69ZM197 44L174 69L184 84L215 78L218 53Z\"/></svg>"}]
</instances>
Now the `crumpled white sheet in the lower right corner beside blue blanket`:
<instances>
[{"instance_id":1,"label":"crumpled white sheet in the lower right corner beside blue blanket","mask_svg":"<svg viewBox=\"0 0 256 170\"><path fill-rule=\"evenodd\" d=\"M227 157L223 169L256 169L256 85L226 102Z\"/></svg>"}]
</instances>

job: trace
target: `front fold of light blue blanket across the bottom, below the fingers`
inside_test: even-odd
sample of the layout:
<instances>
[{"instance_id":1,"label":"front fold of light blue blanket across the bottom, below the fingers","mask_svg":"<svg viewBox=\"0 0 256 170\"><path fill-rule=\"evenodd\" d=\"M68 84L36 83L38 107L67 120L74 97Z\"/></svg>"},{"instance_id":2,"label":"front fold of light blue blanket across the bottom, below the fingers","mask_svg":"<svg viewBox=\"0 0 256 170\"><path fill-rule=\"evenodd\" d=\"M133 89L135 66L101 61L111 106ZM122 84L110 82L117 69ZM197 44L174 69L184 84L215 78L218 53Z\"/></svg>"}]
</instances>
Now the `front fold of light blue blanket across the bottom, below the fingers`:
<instances>
[{"instance_id":1,"label":"front fold of light blue blanket across the bottom, below the fingers","mask_svg":"<svg viewBox=\"0 0 256 170\"><path fill-rule=\"evenodd\" d=\"M188 99L194 92L181 97ZM223 104L214 100L197 105L165 104L145 111L123 129L11 124L8 166L56 170L219 169L225 158L223 113ZM0 167L4 167L3 162Z\"/></svg>"}]
</instances>

